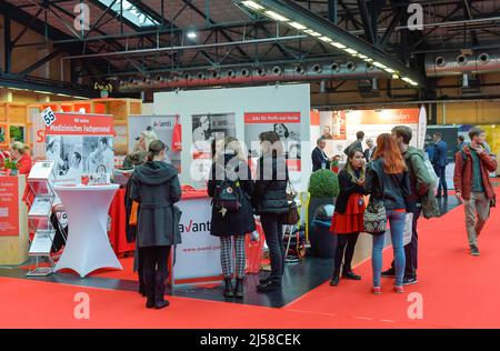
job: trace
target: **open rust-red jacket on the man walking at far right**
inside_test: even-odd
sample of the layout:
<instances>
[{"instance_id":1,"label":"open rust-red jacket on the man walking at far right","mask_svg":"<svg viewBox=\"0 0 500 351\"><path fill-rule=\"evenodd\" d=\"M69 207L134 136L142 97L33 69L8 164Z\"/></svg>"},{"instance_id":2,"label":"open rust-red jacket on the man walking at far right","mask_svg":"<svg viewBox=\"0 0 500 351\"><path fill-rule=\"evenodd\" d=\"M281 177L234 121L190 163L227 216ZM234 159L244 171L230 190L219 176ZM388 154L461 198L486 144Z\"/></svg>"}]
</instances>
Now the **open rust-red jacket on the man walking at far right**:
<instances>
[{"instance_id":1,"label":"open rust-red jacket on the man walking at far right","mask_svg":"<svg viewBox=\"0 0 500 351\"><path fill-rule=\"evenodd\" d=\"M463 151L463 153L462 153ZM468 146L462 148L454 154L454 176L453 183L454 190L462 193L464 200L470 200L470 193L472 188L472 156ZM497 161L490 158L487 152L479 156L481 166L482 183L484 184L484 192L488 199L494 199L493 185L490 182L489 172L497 170Z\"/></svg>"}]
</instances>

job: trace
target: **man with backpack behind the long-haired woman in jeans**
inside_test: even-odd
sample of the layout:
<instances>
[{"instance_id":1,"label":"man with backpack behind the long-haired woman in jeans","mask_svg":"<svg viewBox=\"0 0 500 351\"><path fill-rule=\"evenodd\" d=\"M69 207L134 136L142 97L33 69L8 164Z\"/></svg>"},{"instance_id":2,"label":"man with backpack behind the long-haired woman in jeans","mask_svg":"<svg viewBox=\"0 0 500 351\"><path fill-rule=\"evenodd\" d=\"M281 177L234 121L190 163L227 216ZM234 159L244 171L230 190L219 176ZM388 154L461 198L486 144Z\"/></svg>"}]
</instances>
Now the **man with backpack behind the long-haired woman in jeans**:
<instances>
[{"instance_id":1,"label":"man with backpack behind the long-haired woman in jeans","mask_svg":"<svg viewBox=\"0 0 500 351\"><path fill-rule=\"evenodd\" d=\"M410 140L412 138L411 128L407 126L392 128L392 138L394 138L399 151L401 151L404 159L411 184L411 194L407 198L407 212L413 213L413 221L411 227L411 241L404 245L406 264L403 278L403 285L409 285L418 282L417 224L420 214L423 211L423 215L429 219L439 217L440 211L433 191L433 179L426 167L423 151L410 147ZM391 268L382 272L382 277L396 277L394 260L392 260Z\"/></svg>"}]
</instances>

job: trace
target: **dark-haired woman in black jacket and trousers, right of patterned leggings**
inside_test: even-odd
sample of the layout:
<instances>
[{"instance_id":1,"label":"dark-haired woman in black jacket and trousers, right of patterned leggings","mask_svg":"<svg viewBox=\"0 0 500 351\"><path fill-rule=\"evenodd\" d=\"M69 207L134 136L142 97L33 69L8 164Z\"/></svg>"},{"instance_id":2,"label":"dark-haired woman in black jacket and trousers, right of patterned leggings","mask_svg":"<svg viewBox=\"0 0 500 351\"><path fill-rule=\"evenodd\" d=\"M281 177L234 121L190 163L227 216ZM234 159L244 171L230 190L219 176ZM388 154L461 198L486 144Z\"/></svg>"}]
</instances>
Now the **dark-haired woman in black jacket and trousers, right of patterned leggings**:
<instances>
[{"instance_id":1,"label":"dark-haired woman in black jacket and trousers, right of patterned leggings","mask_svg":"<svg viewBox=\"0 0 500 351\"><path fill-rule=\"evenodd\" d=\"M284 270L282 215L288 212L288 169L283 144L274 131L259 136L262 156L257 164L252 204L260 221L271 257L271 274L257 285L258 291L281 289Z\"/></svg>"}]
</instances>

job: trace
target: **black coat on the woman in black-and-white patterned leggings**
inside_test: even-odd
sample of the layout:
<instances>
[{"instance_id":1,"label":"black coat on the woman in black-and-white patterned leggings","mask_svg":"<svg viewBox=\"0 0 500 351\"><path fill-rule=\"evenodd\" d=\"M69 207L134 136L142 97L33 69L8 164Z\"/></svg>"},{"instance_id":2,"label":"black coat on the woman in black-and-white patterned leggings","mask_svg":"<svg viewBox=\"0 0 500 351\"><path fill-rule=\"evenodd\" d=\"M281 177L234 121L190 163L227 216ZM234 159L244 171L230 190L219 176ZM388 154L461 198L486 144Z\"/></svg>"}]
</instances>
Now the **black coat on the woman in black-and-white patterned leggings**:
<instances>
[{"instance_id":1,"label":"black coat on the woman in black-and-white patterned leggings","mask_svg":"<svg viewBox=\"0 0 500 351\"><path fill-rule=\"evenodd\" d=\"M242 235L251 233L256 230L256 222L253 220L253 209L250 203L250 197L253 194L253 182L251 180L251 173L248 164L242 160L234 159L234 154L221 156L223 161L219 159L220 164L224 167L230 163L232 167L238 167L237 172L241 174L240 190L241 190L241 208L238 211L228 211L226 215L222 215L219 210L212 205L212 221L210 227L210 233L216 237L226 235ZM237 166L238 164L238 166ZM208 193L211 198L216 195L216 188L218 180L216 178L216 163L212 163L211 177L208 181Z\"/></svg>"}]
</instances>

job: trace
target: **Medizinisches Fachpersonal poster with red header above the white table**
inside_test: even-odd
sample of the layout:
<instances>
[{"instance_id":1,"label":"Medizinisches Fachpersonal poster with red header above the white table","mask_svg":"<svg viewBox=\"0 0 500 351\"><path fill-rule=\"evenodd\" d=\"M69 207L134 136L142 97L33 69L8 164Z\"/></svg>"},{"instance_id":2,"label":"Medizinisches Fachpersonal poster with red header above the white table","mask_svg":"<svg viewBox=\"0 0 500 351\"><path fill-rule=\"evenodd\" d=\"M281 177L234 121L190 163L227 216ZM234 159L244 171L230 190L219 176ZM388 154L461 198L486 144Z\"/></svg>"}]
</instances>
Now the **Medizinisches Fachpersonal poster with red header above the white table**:
<instances>
[{"instance_id":1,"label":"Medizinisches Fachpersonal poster with red header above the white table","mask_svg":"<svg viewBox=\"0 0 500 351\"><path fill-rule=\"evenodd\" d=\"M54 161L56 182L80 183L82 174L113 173L113 118L58 113L46 128L46 158Z\"/></svg>"}]
</instances>

